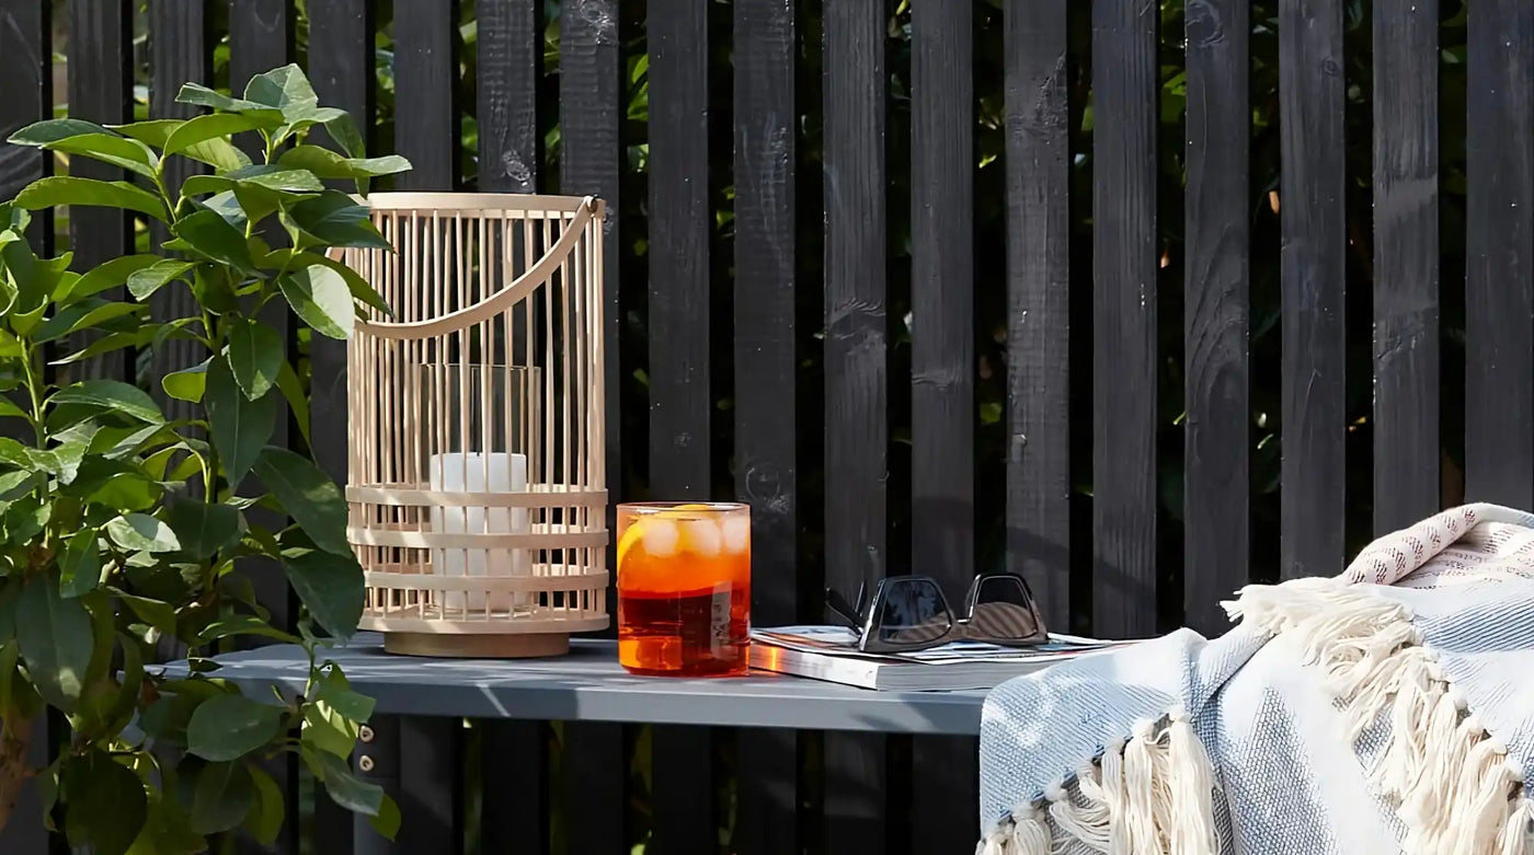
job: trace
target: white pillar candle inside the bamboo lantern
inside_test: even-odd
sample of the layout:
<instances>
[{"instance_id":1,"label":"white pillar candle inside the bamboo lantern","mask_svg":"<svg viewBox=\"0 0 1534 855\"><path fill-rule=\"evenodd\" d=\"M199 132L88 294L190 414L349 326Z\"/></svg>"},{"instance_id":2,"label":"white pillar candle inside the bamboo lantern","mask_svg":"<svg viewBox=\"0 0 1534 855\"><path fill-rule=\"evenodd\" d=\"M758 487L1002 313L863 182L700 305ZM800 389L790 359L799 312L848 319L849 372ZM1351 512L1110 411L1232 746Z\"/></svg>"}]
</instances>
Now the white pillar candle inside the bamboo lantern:
<instances>
[{"instance_id":1,"label":"white pillar candle inside the bamboo lantern","mask_svg":"<svg viewBox=\"0 0 1534 855\"><path fill-rule=\"evenodd\" d=\"M445 493L515 493L528 489L528 457L506 452L431 455L431 490ZM522 535L529 532L525 507L433 507L433 532L448 535ZM526 576L525 549L434 549L433 572L445 576ZM526 595L497 593L495 611L526 604ZM485 591L443 591L443 607L483 611Z\"/></svg>"}]
</instances>

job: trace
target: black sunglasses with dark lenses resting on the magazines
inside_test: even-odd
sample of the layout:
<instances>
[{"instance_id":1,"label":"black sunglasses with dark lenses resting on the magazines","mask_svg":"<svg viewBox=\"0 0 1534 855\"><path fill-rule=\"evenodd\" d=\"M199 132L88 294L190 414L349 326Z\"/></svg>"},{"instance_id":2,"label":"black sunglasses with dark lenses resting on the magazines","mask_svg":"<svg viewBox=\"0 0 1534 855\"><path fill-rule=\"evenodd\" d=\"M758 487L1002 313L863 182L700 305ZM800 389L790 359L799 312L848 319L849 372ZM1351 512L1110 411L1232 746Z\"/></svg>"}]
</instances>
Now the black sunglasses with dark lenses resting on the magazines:
<instances>
[{"instance_id":1,"label":"black sunglasses with dark lenses resting on the magazines","mask_svg":"<svg viewBox=\"0 0 1534 855\"><path fill-rule=\"evenodd\" d=\"M969 582L962 616L954 616L943 588L930 576L891 576L858 588L858 604L825 588L831 611L858 631L862 653L927 650L954 640L1022 647L1049 639L1032 590L1012 573L982 573Z\"/></svg>"}]
</instances>

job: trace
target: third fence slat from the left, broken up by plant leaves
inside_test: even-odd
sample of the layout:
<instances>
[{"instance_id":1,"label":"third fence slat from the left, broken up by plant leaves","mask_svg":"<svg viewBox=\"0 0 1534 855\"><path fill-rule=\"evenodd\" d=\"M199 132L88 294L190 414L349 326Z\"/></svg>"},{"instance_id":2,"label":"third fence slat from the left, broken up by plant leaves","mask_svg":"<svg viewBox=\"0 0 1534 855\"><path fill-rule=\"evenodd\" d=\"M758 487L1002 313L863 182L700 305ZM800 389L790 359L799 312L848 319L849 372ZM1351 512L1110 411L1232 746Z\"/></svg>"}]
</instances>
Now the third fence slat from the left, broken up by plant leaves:
<instances>
[{"instance_id":1,"label":"third fence slat from the left, broken up by plant leaves","mask_svg":"<svg viewBox=\"0 0 1534 855\"><path fill-rule=\"evenodd\" d=\"M212 18L202 3L178 3L176 0L152 0L149 5L149 116L190 118L196 107L178 104L176 93L183 83L212 84L213 51L209 44ZM166 162L166 185L172 193L195 172L207 172L189 158L172 158ZM169 230L155 222L150 228L155 244L170 238ZM176 317L195 316L196 299L190 288L161 288L149 299L153 319L160 323ZM170 339L155 351L153 377L192 368L207 359L207 348L196 342ZM170 418L190 418L192 405L164 394L158 382L150 383L150 392Z\"/></svg>"}]
</instances>

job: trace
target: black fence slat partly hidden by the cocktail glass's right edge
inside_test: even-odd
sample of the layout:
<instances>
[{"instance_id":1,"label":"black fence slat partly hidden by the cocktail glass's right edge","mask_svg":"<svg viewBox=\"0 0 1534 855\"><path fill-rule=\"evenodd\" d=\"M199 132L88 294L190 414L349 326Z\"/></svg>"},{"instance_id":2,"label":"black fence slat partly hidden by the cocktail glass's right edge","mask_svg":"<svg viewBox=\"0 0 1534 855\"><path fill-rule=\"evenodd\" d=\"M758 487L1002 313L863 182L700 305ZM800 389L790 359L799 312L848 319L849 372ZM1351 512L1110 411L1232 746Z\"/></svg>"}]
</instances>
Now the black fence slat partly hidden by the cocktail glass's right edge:
<instances>
[{"instance_id":1,"label":"black fence slat partly hidden by the cocktail glass's right edge","mask_svg":"<svg viewBox=\"0 0 1534 855\"><path fill-rule=\"evenodd\" d=\"M798 621L795 5L735 5L735 495L752 506L752 622ZM799 852L798 735L739 732L735 847Z\"/></svg>"}]
</instances>

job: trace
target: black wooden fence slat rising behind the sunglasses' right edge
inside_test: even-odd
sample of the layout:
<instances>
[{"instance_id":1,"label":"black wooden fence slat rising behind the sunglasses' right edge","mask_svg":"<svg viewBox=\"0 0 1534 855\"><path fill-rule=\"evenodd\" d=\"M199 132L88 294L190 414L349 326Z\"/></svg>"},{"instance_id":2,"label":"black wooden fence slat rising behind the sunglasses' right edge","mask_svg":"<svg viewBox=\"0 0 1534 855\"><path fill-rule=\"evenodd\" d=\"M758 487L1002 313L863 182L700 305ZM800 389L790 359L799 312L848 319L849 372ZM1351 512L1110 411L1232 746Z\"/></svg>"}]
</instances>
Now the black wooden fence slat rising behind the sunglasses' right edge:
<instances>
[{"instance_id":1,"label":"black wooden fence slat rising behind the sunglasses' right edge","mask_svg":"<svg viewBox=\"0 0 1534 855\"><path fill-rule=\"evenodd\" d=\"M1071 139L1066 2L1008 0L1006 568L1071 614Z\"/></svg>"}]
</instances>

